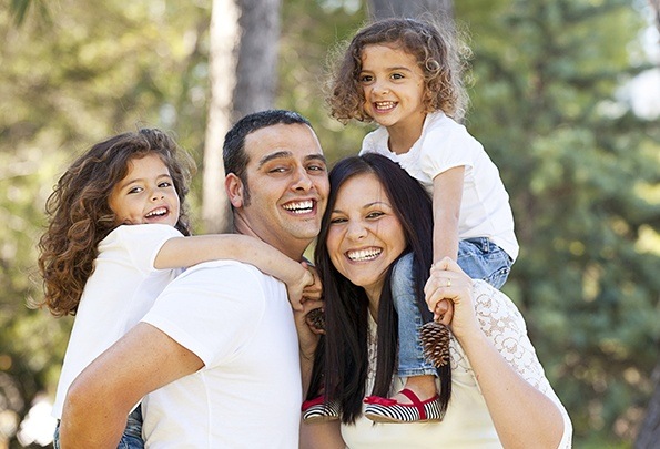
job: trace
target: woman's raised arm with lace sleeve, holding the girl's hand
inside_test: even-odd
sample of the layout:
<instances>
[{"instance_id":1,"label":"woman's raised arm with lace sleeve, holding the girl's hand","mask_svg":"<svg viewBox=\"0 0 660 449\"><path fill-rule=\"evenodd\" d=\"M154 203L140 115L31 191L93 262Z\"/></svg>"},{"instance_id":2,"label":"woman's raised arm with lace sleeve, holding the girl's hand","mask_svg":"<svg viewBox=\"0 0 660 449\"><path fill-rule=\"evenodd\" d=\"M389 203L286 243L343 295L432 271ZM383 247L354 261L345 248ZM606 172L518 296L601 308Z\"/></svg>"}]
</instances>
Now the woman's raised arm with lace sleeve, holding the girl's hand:
<instances>
[{"instance_id":1,"label":"woman's raised arm with lace sleeve, holding the girl's hand","mask_svg":"<svg viewBox=\"0 0 660 449\"><path fill-rule=\"evenodd\" d=\"M443 298L454 302L451 330L469 359L504 447L557 448L570 429L565 428L565 417L550 398L551 391L545 394L539 389L547 380L522 318L515 316L517 309L511 312L515 309L512 303L512 309L506 309L507 303L494 297L502 294L488 289L493 295L479 299L483 304L476 306L477 317L473 282L448 258L431 269L431 279L427 284L429 308L435 309ZM494 316L494 305L500 307L497 317ZM491 335L485 334L480 322L493 325L489 328ZM498 338L501 345L497 343ZM510 357L505 358L502 354Z\"/></svg>"}]
</instances>

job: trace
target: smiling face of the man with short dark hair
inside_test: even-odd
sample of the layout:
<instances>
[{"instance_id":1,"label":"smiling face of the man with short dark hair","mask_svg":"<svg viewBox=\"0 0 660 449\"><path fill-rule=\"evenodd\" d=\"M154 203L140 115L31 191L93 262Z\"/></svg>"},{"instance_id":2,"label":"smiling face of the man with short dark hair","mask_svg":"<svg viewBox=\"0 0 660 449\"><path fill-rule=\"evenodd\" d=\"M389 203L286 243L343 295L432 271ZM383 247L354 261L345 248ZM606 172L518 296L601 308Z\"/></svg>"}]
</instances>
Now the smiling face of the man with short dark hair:
<instances>
[{"instance_id":1,"label":"smiling face of the man with short dark hair","mask_svg":"<svg viewBox=\"0 0 660 449\"><path fill-rule=\"evenodd\" d=\"M297 259L321 231L329 192L318 139L305 124L276 124L248 134L245 151L250 201L238 178L227 185L236 228Z\"/></svg>"}]
</instances>

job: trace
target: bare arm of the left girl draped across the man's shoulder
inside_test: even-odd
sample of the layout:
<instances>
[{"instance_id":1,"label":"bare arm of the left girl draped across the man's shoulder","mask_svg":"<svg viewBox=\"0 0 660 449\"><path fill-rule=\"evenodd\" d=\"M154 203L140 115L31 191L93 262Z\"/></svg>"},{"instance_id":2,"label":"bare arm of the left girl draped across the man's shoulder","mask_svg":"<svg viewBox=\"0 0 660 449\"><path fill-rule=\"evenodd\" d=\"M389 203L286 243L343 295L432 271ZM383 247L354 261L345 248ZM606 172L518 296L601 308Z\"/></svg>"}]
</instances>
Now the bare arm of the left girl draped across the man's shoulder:
<instances>
[{"instance_id":1,"label":"bare arm of the left girl draped across the man's shoulder","mask_svg":"<svg viewBox=\"0 0 660 449\"><path fill-rule=\"evenodd\" d=\"M286 284L288 300L301 308L303 289L314 284L305 265L257 238L241 234L210 234L170 238L154 261L158 269L190 267L202 262L233 259L251 264Z\"/></svg>"}]
</instances>

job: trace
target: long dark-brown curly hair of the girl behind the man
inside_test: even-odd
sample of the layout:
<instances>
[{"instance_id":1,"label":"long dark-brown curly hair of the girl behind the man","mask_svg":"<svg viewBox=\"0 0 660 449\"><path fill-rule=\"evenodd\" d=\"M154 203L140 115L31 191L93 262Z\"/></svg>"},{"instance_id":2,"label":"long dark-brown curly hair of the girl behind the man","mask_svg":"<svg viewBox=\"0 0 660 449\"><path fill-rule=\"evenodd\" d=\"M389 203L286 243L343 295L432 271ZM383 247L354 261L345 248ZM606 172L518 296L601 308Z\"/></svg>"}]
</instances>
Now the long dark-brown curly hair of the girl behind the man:
<instances>
[{"instance_id":1,"label":"long dark-brown curly hair of the girl behind the man","mask_svg":"<svg viewBox=\"0 0 660 449\"><path fill-rule=\"evenodd\" d=\"M97 143L60 177L45 202L47 231L39 241L39 271L44 299L54 316L75 315L84 285L94 271L99 243L118 227L109 205L116 183L129 171L129 163L156 154L172 176L181 202L175 227L190 235L185 207L194 163L176 142L156 129L141 129Z\"/></svg>"}]
</instances>

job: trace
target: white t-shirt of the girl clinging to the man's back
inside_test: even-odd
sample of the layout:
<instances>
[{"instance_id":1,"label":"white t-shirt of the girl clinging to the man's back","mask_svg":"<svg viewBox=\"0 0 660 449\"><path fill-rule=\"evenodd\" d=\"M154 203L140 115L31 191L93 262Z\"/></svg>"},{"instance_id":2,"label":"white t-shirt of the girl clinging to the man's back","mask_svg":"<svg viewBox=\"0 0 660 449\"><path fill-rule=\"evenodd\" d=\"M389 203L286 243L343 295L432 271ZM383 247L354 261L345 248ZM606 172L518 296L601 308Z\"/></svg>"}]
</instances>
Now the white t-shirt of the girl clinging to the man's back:
<instances>
[{"instance_id":1,"label":"white t-shirt of the girl clinging to the man's back","mask_svg":"<svg viewBox=\"0 0 660 449\"><path fill-rule=\"evenodd\" d=\"M172 226L119 226L99 243L94 273L85 283L52 415L61 418L67 391L78 375L144 316L181 269L155 269L163 244L182 234Z\"/></svg>"}]
</instances>

